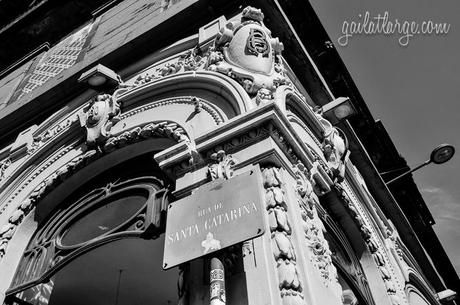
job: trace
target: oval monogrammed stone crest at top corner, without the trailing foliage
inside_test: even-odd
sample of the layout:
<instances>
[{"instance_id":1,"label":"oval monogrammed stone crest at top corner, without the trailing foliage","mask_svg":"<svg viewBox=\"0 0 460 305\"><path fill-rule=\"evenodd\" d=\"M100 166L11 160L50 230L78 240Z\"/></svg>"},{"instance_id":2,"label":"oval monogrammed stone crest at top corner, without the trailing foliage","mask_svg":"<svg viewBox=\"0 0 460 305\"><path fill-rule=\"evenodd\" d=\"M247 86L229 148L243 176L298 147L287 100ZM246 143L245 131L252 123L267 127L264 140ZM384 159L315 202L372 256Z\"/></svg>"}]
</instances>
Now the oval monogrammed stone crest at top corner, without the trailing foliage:
<instances>
[{"instance_id":1,"label":"oval monogrammed stone crest at top corner, without the trailing foliage","mask_svg":"<svg viewBox=\"0 0 460 305\"><path fill-rule=\"evenodd\" d=\"M246 7L240 21L229 22L207 55L206 69L236 79L256 102L273 99L280 85L287 84L281 59L283 44L271 37L259 9Z\"/></svg>"}]
</instances>

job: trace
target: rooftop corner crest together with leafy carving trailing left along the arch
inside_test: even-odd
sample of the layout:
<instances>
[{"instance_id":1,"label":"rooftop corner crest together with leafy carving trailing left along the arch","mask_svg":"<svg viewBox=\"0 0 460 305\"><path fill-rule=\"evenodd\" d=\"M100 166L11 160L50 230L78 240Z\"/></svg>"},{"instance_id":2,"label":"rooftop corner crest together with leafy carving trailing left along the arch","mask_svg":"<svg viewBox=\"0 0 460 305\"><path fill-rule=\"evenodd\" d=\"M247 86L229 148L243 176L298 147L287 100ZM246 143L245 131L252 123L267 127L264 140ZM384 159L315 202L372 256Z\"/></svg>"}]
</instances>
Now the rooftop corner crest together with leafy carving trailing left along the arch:
<instances>
[{"instance_id":1,"label":"rooftop corner crest together with leafy carving trailing left along the arch","mask_svg":"<svg viewBox=\"0 0 460 305\"><path fill-rule=\"evenodd\" d=\"M283 44L271 37L263 19L261 10L246 7L239 21L228 22L220 29L207 50L186 51L177 59L140 75L133 86L179 72L208 70L236 80L257 105L272 100L276 88L290 81L281 58Z\"/></svg>"}]
</instances>

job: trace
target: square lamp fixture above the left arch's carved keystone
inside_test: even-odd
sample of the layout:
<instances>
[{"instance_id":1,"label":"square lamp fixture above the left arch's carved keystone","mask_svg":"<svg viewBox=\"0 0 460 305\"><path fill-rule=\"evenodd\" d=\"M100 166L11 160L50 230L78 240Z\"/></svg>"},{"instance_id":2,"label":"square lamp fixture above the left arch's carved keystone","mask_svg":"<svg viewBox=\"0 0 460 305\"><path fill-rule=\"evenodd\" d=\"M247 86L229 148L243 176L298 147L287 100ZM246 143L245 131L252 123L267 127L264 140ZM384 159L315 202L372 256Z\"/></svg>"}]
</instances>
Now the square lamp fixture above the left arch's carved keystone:
<instances>
[{"instance_id":1,"label":"square lamp fixture above the left arch's carved keystone","mask_svg":"<svg viewBox=\"0 0 460 305\"><path fill-rule=\"evenodd\" d=\"M84 72L78 79L78 82L85 82L89 87L103 91L117 87L120 84L120 77L113 70L98 64Z\"/></svg>"}]
</instances>

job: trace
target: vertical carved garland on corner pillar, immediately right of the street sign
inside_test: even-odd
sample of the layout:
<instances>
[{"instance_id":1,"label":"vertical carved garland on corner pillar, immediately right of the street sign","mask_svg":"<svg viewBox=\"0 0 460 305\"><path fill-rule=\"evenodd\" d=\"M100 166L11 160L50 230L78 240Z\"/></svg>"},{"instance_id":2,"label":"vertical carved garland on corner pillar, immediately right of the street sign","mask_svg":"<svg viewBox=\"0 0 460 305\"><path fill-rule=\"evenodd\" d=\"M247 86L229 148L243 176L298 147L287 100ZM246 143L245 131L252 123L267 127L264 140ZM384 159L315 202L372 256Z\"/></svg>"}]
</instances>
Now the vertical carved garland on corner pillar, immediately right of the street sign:
<instances>
[{"instance_id":1,"label":"vertical carved garland on corner pillar, immediately right of the street sign","mask_svg":"<svg viewBox=\"0 0 460 305\"><path fill-rule=\"evenodd\" d=\"M299 279L296 255L291 242L289 224L282 180L279 169L275 167L262 170L265 204L268 212L273 256L278 271L279 289L284 305L304 304L302 284Z\"/></svg>"}]
</instances>

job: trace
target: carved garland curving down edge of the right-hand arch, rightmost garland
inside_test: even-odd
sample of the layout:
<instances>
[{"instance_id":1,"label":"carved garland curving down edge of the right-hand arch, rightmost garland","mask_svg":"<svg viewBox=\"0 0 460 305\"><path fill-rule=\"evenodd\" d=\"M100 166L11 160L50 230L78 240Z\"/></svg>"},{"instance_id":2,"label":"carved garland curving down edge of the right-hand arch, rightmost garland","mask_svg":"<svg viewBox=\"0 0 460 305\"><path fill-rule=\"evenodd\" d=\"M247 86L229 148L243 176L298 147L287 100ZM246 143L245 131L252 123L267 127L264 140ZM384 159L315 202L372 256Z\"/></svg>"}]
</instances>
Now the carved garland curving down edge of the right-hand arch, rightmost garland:
<instances>
[{"instance_id":1,"label":"carved garland curving down edge of the right-hand arch, rightmost garland","mask_svg":"<svg viewBox=\"0 0 460 305\"><path fill-rule=\"evenodd\" d=\"M391 269L391 265L388 264L387 260L385 259L385 252L380 248L378 241L372 234L371 228L366 224L366 221L354 206L345 188L342 185L336 183L335 189L340 198L343 200L345 207L348 208L349 214L352 216L354 222L361 231L361 235L369 249L369 252L372 254L375 264L380 271L380 275L385 283L387 294L391 300L392 305L401 305L401 300L395 287L395 284L398 284L398 281L390 273L389 269Z\"/></svg>"}]
</instances>

